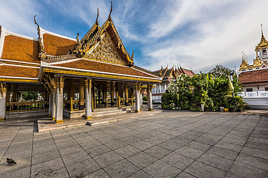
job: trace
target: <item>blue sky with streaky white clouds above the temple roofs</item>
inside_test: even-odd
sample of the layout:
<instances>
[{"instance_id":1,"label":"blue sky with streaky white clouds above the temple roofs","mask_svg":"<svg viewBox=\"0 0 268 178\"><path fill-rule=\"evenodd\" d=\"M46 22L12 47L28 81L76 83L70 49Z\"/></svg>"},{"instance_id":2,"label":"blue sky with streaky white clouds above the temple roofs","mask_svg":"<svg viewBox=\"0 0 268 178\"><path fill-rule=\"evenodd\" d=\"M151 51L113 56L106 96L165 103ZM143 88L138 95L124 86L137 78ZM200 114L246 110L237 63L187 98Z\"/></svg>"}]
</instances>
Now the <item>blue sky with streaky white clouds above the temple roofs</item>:
<instances>
[{"instance_id":1,"label":"blue sky with streaky white clouds above the temple roofs","mask_svg":"<svg viewBox=\"0 0 268 178\"><path fill-rule=\"evenodd\" d=\"M268 38L268 1L181 0L112 1L112 20L135 65L157 70L160 65L207 72L217 64L239 68L241 51L252 64L260 42L260 24ZM80 38L110 12L110 1L0 0L0 25L37 38L39 25L54 33Z\"/></svg>"}]
</instances>

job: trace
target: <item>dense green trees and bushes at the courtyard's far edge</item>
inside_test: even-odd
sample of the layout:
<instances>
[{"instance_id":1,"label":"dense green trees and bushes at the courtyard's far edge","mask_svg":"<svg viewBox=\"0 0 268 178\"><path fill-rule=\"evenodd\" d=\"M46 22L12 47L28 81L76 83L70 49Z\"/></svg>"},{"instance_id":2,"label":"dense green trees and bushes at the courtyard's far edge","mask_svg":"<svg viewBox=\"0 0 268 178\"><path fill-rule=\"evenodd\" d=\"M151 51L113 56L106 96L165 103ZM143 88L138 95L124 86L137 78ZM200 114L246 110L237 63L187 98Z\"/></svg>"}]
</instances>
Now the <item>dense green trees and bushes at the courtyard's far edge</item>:
<instances>
[{"instance_id":1,"label":"dense green trees and bushes at the courtyard's far edge","mask_svg":"<svg viewBox=\"0 0 268 178\"><path fill-rule=\"evenodd\" d=\"M241 87L237 76L233 76L234 91L228 93L228 77L214 77L211 74L198 74L193 77L184 74L167 88L162 95L162 109L167 110L201 110L204 103L206 111L220 111L220 107L229 111L241 110L248 107L238 94Z\"/></svg>"}]
</instances>

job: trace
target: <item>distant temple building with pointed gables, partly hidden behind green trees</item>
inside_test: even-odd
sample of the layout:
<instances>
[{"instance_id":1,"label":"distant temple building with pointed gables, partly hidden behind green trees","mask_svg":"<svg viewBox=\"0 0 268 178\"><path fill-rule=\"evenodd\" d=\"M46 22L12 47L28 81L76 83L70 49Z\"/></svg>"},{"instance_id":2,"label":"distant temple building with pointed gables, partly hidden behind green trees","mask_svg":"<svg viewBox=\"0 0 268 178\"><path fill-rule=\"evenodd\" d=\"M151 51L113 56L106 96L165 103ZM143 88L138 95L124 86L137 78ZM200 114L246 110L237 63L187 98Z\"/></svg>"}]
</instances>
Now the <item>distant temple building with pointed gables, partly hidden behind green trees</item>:
<instances>
[{"instance_id":1,"label":"distant temple building with pointed gables, partly hidden behind green trees","mask_svg":"<svg viewBox=\"0 0 268 178\"><path fill-rule=\"evenodd\" d=\"M194 72L188 69L184 69L181 66L176 67L173 66L172 68L168 69L168 65L166 66L165 69L161 66L160 70L154 71L155 73L158 73L162 81L159 83L156 83L156 87L153 88L152 91L152 99L156 102L161 102L161 97L165 93L167 87L169 86L170 83L173 83L177 76L181 74L193 76Z\"/></svg>"}]
</instances>

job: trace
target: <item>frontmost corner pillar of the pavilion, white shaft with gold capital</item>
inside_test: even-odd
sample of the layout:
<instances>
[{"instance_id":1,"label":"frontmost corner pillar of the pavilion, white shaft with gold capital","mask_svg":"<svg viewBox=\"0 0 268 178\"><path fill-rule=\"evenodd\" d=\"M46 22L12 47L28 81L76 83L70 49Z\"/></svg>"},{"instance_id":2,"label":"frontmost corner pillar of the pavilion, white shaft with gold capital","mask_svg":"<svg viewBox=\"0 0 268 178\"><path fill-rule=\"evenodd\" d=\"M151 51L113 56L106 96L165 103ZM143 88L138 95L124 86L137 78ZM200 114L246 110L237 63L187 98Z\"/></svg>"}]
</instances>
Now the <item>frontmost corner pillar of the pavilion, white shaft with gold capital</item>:
<instances>
[{"instance_id":1,"label":"frontmost corner pillar of the pavilion, white shaft with gold capital","mask_svg":"<svg viewBox=\"0 0 268 178\"><path fill-rule=\"evenodd\" d=\"M64 78L62 74L57 74L56 77L56 117L55 124L63 123L63 87L64 87Z\"/></svg>"}]
</instances>

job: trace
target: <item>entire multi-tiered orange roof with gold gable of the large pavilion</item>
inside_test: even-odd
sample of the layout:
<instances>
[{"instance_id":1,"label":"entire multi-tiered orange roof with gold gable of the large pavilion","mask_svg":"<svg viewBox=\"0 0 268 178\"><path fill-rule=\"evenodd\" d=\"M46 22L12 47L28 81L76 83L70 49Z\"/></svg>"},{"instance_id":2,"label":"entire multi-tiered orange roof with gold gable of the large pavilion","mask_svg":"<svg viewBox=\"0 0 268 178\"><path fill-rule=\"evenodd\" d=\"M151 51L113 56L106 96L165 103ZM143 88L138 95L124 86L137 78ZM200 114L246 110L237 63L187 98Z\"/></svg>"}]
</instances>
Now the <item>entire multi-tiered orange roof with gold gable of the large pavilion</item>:
<instances>
[{"instance_id":1,"label":"entire multi-tiered orange roof with gold gable of the large pavilion","mask_svg":"<svg viewBox=\"0 0 268 178\"><path fill-rule=\"evenodd\" d=\"M112 8L111 8L112 12ZM37 24L38 38L0 26L0 79L41 82L45 72L159 82L158 73L134 65L111 18L94 25L79 40L48 32ZM98 10L99 16L99 10Z\"/></svg>"}]
</instances>

